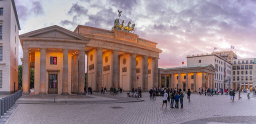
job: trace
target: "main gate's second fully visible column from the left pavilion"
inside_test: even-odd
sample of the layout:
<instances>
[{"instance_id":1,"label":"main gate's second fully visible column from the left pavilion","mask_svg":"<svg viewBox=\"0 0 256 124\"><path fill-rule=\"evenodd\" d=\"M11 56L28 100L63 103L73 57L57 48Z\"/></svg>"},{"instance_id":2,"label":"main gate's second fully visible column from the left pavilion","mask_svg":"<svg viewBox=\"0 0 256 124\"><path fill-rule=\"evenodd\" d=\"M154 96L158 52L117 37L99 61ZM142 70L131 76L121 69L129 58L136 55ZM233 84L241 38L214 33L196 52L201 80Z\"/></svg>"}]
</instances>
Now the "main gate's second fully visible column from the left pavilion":
<instances>
[{"instance_id":1,"label":"main gate's second fully visible column from the left pavilion","mask_svg":"<svg viewBox=\"0 0 256 124\"><path fill-rule=\"evenodd\" d=\"M119 87L119 57L118 57L118 51L117 50L113 50L113 87Z\"/></svg>"}]
</instances>

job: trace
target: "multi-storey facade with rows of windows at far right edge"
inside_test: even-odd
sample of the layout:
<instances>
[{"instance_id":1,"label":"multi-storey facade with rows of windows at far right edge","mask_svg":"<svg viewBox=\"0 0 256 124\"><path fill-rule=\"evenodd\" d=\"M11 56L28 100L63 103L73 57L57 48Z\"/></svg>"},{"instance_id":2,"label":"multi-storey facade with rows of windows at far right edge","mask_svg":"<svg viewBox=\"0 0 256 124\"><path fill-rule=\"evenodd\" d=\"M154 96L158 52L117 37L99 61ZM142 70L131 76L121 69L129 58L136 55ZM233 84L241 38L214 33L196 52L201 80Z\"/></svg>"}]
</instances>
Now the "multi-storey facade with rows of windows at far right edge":
<instances>
[{"instance_id":1,"label":"multi-storey facade with rows of windows at far right edge","mask_svg":"<svg viewBox=\"0 0 256 124\"><path fill-rule=\"evenodd\" d=\"M233 88L247 89L256 86L256 59L244 58L232 61Z\"/></svg>"}]
</instances>

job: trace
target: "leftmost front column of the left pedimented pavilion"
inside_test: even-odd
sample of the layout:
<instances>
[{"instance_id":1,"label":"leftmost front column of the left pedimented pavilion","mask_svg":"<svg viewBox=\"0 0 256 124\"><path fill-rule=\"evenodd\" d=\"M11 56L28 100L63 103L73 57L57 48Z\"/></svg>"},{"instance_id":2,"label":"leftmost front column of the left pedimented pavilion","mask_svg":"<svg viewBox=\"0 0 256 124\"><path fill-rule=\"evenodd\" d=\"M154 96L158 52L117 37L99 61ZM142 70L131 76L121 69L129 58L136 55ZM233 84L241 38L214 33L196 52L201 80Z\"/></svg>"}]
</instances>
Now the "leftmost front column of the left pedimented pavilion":
<instances>
[{"instance_id":1,"label":"leftmost front column of the left pedimented pavilion","mask_svg":"<svg viewBox=\"0 0 256 124\"><path fill-rule=\"evenodd\" d=\"M29 93L29 48L23 48L22 91Z\"/></svg>"}]
</instances>

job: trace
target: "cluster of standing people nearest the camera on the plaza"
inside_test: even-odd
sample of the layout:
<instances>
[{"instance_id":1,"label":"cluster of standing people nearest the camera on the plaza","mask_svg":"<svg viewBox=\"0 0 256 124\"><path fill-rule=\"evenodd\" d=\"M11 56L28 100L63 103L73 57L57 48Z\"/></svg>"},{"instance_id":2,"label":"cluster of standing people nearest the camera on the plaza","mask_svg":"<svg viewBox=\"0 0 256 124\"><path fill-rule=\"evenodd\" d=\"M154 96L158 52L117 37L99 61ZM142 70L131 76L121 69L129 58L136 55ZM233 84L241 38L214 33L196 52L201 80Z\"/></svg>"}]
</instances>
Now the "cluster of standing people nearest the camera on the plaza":
<instances>
[{"instance_id":1,"label":"cluster of standing people nearest the camera on the plaza","mask_svg":"<svg viewBox=\"0 0 256 124\"><path fill-rule=\"evenodd\" d=\"M164 107L164 104L166 104L165 108L167 108L167 102L171 100L171 108L179 108L179 100L180 100L180 108L183 108L183 98L184 98L184 92L181 89L174 89L174 90L164 90L164 97L163 97L163 103L162 108ZM190 102L190 95L191 91L188 89L187 91L187 98ZM175 107L174 107L174 101L175 101Z\"/></svg>"}]
</instances>

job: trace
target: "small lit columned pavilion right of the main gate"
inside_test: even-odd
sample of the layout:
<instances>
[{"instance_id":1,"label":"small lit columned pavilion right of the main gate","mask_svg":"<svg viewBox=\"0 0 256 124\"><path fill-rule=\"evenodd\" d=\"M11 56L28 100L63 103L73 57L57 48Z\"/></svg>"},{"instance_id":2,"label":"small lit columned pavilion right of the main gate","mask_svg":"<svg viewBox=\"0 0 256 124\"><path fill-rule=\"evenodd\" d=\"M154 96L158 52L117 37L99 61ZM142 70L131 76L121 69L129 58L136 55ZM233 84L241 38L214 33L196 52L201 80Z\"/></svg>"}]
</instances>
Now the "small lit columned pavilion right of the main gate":
<instances>
[{"instance_id":1,"label":"small lit columned pavilion right of the main gate","mask_svg":"<svg viewBox=\"0 0 256 124\"><path fill-rule=\"evenodd\" d=\"M212 64L159 68L159 86L198 91L199 88L215 88ZM169 81L167 81L169 77Z\"/></svg>"}]
</instances>

